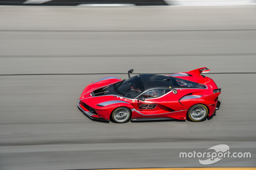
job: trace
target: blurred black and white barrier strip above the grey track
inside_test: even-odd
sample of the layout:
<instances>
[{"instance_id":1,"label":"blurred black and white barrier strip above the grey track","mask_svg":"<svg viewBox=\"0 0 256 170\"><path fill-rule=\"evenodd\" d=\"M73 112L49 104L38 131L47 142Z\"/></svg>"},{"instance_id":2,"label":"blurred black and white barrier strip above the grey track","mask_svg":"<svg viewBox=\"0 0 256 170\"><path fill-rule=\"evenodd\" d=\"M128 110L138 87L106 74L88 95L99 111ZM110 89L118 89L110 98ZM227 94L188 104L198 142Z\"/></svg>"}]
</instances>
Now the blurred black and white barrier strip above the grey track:
<instances>
[{"instance_id":1,"label":"blurred black and white barrier strip above the grey track","mask_svg":"<svg viewBox=\"0 0 256 170\"><path fill-rule=\"evenodd\" d=\"M0 0L8 6L214 6L256 5L255 0Z\"/></svg>"}]
</instances>

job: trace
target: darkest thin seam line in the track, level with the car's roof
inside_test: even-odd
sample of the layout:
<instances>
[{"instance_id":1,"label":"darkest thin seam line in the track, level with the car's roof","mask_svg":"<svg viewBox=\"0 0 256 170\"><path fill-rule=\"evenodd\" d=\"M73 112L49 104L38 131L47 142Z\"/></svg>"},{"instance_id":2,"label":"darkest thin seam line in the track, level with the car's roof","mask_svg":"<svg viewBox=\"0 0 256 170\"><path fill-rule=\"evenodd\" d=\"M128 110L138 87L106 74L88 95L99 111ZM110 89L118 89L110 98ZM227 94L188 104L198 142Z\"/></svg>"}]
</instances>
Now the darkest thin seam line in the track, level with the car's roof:
<instances>
[{"instance_id":1,"label":"darkest thin seam line in the track, level with the car's roof","mask_svg":"<svg viewBox=\"0 0 256 170\"><path fill-rule=\"evenodd\" d=\"M110 74L110 75L113 75L113 74L128 74L128 73L70 73L70 74L66 74L66 73L63 73L63 74L54 74L54 73L50 73L50 74L0 74L0 76L43 76L43 75L105 75L105 74ZM135 75L137 74L147 74L147 73L136 73ZM165 75L168 75L168 74L173 74L173 73L154 73L154 74L165 74ZM228 73L207 73L207 74L256 74L256 72L228 72Z\"/></svg>"}]
</instances>

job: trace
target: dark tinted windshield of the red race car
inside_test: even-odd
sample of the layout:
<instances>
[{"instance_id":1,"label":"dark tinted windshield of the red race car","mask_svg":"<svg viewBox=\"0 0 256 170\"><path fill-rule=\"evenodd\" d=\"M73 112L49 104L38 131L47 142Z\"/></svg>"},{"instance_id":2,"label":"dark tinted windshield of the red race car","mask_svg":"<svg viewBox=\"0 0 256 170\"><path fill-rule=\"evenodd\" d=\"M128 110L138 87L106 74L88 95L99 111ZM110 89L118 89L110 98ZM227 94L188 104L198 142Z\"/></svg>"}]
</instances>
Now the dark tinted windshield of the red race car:
<instances>
[{"instance_id":1,"label":"dark tinted windshield of the red race car","mask_svg":"<svg viewBox=\"0 0 256 170\"><path fill-rule=\"evenodd\" d=\"M117 93L132 99L138 96L141 92L145 91L144 85L138 75L118 82L116 85L114 85L114 89Z\"/></svg>"}]
</instances>

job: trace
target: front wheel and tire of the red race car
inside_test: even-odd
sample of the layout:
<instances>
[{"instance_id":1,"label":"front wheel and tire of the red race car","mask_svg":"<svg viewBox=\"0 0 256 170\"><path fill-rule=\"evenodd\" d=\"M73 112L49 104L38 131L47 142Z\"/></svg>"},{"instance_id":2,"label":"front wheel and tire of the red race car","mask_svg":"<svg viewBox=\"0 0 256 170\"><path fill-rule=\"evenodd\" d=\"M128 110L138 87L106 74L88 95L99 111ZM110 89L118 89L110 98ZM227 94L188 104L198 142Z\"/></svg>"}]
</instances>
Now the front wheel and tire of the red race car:
<instances>
[{"instance_id":1,"label":"front wheel and tire of the red race car","mask_svg":"<svg viewBox=\"0 0 256 170\"><path fill-rule=\"evenodd\" d=\"M116 123L128 122L131 117L131 110L127 107L117 107L113 110L111 118Z\"/></svg>"}]
</instances>

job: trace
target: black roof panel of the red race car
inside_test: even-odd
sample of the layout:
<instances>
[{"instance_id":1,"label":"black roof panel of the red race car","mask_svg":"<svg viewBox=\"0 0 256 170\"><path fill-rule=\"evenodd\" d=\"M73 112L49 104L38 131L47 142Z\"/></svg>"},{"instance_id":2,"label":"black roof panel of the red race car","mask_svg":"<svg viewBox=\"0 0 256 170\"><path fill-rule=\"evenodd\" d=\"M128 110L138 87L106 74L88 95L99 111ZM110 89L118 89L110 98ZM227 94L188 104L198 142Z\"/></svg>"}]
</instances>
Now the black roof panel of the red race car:
<instances>
[{"instance_id":1,"label":"black roof panel of the red race car","mask_svg":"<svg viewBox=\"0 0 256 170\"><path fill-rule=\"evenodd\" d=\"M152 89L168 89L167 86L171 83L169 76L159 74L140 74L137 75L143 82L145 91Z\"/></svg>"}]
</instances>

